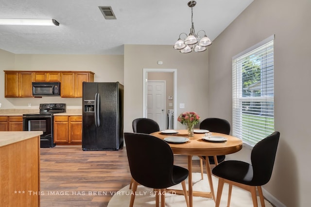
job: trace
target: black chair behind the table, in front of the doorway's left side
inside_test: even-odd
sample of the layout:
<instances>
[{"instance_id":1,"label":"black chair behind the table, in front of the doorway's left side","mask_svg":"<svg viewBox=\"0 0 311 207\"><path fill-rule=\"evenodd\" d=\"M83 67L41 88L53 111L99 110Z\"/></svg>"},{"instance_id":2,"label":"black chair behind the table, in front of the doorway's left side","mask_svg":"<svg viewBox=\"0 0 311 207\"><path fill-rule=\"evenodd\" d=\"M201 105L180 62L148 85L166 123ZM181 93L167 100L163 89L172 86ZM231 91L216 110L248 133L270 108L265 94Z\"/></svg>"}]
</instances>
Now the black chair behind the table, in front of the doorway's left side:
<instances>
[{"instance_id":1,"label":"black chair behind the table, in front of the doorway's left side","mask_svg":"<svg viewBox=\"0 0 311 207\"><path fill-rule=\"evenodd\" d=\"M132 122L133 132L151 134L159 131L159 125L152 119L148 118L137 118Z\"/></svg>"}]
</instances>

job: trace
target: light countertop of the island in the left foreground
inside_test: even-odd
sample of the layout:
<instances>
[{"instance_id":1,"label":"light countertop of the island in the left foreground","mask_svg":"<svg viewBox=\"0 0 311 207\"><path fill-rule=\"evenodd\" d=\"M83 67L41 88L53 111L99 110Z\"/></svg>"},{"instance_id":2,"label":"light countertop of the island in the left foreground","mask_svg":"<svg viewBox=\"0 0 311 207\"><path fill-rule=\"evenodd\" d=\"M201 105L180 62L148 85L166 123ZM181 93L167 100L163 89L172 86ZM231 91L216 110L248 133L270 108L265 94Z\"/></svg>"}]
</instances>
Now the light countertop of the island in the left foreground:
<instances>
[{"instance_id":1,"label":"light countertop of the island in the left foreground","mask_svg":"<svg viewBox=\"0 0 311 207\"><path fill-rule=\"evenodd\" d=\"M43 134L42 131L0 131L0 147Z\"/></svg>"}]
</instances>

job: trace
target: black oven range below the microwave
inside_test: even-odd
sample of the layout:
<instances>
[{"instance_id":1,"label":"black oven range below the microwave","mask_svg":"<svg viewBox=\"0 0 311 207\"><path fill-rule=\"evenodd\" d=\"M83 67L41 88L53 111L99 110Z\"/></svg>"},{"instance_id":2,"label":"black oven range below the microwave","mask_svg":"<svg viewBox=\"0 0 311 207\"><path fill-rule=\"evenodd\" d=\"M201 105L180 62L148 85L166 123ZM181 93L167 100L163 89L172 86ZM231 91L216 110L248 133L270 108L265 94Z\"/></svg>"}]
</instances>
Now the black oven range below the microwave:
<instances>
[{"instance_id":1,"label":"black oven range below the microwave","mask_svg":"<svg viewBox=\"0 0 311 207\"><path fill-rule=\"evenodd\" d=\"M54 147L54 113L66 112L66 104L40 104L38 113L23 114L24 131L43 131L40 147Z\"/></svg>"}]
</instances>

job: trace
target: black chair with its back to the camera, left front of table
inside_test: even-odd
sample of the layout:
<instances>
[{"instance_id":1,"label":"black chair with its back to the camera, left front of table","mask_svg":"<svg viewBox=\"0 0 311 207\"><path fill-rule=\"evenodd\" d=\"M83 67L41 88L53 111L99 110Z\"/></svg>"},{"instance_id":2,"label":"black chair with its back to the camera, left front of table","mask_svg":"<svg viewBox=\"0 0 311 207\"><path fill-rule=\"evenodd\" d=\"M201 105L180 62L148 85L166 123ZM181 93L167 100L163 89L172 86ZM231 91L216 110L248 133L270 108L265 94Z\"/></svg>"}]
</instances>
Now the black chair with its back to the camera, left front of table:
<instances>
[{"instance_id":1,"label":"black chair with its back to the camera, left front of table","mask_svg":"<svg viewBox=\"0 0 311 207\"><path fill-rule=\"evenodd\" d=\"M159 206L159 194L161 207L165 207L166 189L181 183L189 207L185 183L189 171L173 165L174 157L170 145L155 136L140 133L124 133L124 140L130 172L134 178L130 207L133 207L138 183L157 191L156 207Z\"/></svg>"}]
</instances>

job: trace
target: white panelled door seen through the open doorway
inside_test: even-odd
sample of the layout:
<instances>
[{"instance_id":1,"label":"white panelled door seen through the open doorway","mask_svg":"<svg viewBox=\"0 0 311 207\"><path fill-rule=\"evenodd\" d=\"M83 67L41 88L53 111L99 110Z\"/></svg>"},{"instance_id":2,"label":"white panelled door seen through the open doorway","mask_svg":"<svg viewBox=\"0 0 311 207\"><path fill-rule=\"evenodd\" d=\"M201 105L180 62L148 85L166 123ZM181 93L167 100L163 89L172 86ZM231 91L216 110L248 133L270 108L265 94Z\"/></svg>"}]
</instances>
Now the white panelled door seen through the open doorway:
<instances>
[{"instance_id":1,"label":"white panelled door seen through the open doorway","mask_svg":"<svg viewBox=\"0 0 311 207\"><path fill-rule=\"evenodd\" d=\"M165 127L165 81L148 80L147 83L147 118L153 119L160 127Z\"/></svg>"}]
</instances>

